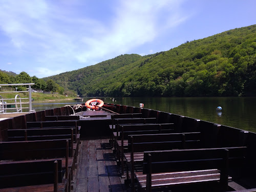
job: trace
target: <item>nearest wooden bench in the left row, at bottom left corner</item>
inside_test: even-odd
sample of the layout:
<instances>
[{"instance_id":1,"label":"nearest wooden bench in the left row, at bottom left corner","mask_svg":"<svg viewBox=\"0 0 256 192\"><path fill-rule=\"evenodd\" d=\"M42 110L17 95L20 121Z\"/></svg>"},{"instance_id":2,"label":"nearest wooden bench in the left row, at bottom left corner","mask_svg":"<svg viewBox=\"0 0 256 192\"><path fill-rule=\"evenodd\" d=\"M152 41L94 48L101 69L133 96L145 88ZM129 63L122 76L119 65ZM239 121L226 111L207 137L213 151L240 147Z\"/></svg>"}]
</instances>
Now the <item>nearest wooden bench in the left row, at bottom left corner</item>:
<instances>
[{"instance_id":1,"label":"nearest wooden bench in the left row, at bottom left corner","mask_svg":"<svg viewBox=\"0 0 256 192\"><path fill-rule=\"evenodd\" d=\"M61 164L61 159L1 162L0 191L65 191Z\"/></svg>"}]
</instances>

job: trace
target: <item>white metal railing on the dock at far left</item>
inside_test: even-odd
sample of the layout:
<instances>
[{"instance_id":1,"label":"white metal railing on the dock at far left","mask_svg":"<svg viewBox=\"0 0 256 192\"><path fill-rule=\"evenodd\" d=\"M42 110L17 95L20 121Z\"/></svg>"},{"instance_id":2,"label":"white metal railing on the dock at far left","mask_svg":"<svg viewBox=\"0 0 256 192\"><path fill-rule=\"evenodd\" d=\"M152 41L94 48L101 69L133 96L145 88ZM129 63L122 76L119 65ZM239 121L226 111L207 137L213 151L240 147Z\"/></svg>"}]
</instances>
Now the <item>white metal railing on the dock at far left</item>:
<instances>
[{"instance_id":1,"label":"white metal railing on the dock at far left","mask_svg":"<svg viewBox=\"0 0 256 192\"><path fill-rule=\"evenodd\" d=\"M15 98L11 99L4 99L0 95L0 113L7 113L7 110L16 110L17 113L21 113L23 109L29 109L29 112L33 112L32 110L32 98L31 98L31 86L35 83L15 83L15 84L0 84L0 86L29 86L28 91L6 91L6 92L0 92L0 93L29 93L29 98L20 98L20 96L17 94ZM22 102L23 99L28 99L29 102ZM8 100L14 100L14 103L8 103ZM7 108L7 105L15 104L15 108ZM29 104L29 108L23 107L22 104Z\"/></svg>"}]
</instances>

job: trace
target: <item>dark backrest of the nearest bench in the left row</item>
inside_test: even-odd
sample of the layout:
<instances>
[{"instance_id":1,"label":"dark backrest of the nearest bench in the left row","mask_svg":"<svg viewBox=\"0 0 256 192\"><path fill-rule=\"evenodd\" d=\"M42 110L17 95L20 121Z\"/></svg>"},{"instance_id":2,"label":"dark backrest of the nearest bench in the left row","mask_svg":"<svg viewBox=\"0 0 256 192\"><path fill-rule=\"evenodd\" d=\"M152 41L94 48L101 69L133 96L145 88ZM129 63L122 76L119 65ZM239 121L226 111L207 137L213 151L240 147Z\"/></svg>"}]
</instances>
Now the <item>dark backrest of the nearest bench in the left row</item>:
<instances>
[{"instance_id":1,"label":"dark backrest of the nearest bench in the left row","mask_svg":"<svg viewBox=\"0 0 256 192\"><path fill-rule=\"evenodd\" d=\"M57 162L57 170L54 162ZM54 183L56 172L58 182L61 183L63 176L61 167L61 159L0 163L0 188Z\"/></svg>"}]
</instances>

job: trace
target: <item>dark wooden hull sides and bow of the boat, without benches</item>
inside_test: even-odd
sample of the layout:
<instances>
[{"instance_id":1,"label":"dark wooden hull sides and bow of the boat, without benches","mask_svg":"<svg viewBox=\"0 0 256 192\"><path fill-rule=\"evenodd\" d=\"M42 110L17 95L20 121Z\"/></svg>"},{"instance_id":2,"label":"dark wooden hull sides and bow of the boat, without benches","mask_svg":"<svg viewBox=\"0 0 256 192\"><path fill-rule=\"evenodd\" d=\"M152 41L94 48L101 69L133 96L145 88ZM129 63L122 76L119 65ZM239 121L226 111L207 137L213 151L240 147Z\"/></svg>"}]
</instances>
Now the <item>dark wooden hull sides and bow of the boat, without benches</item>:
<instances>
[{"instance_id":1,"label":"dark wooden hull sides and bow of the boat, without benches","mask_svg":"<svg viewBox=\"0 0 256 192\"><path fill-rule=\"evenodd\" d=\"M45 121L46 116L66 116L80 113L78 121L81 126L80 139L84 141L104 139L108 141L111 137L109 125L112 123L111 115L142 113L143 118L156 118L157 123L174 123L177 133L200 132L200 143L204 148L246 146L246 157L242 164L230 164L229 174L237 179L241 186L256 188L256 134L234 127L190 118L182 115L161 112L156 110L137 108L112 103L104 103L106 111L87 111L86 106L76 109L63 106L51 110L29 113L18 117L12 117L0 121L0 142L8 141L9 129L26 129L27 122ZM82 152L80 152L82 153Z\"/></svg>"}]
</instances>

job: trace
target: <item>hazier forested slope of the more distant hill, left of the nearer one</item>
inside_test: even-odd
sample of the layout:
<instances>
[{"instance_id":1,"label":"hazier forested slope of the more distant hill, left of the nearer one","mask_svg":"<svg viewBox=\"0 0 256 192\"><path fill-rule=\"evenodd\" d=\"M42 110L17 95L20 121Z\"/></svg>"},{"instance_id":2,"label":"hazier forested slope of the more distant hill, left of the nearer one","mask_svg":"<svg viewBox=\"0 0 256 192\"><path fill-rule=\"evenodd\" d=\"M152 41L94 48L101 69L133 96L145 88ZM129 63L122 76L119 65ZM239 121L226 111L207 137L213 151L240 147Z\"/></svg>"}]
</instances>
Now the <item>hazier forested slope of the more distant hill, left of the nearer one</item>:
<instances>
[{"instance_id":1,"label":"hazier forested slope of the more distant hill, left of the nearer one","mask_svg":"<svg viewBox=\"0 0 256 192\"><path fill-rule=\"evenodd\" d=\"M142 59L144 57L137 55L137 54L131 54L131 55L120 55L113 59L106 60L103 62L98 63L94 66L89 66L86 68L82 68L79 70L61 73L59 75L51 76L43 78L44 80L52 79L56 83L58 83L61 87L67 90L74 90L79 95L101 95L105 92L102 92L104 87L97 88L92 86L93 90L91 89L90 82L95 81L104 81L104 77L113 77L115 76L115 71L119 71L120 68L130 65L130 63L133 63L137 61L138 59ZM114 83L114 82L113 82ZM112 86L110 86L110 90L106 91L109 94L113 94L115 92L118 92L118 95L120 94L121 90L118 90L117 88L111 90Z\"/></svg>"}]
</instances>

